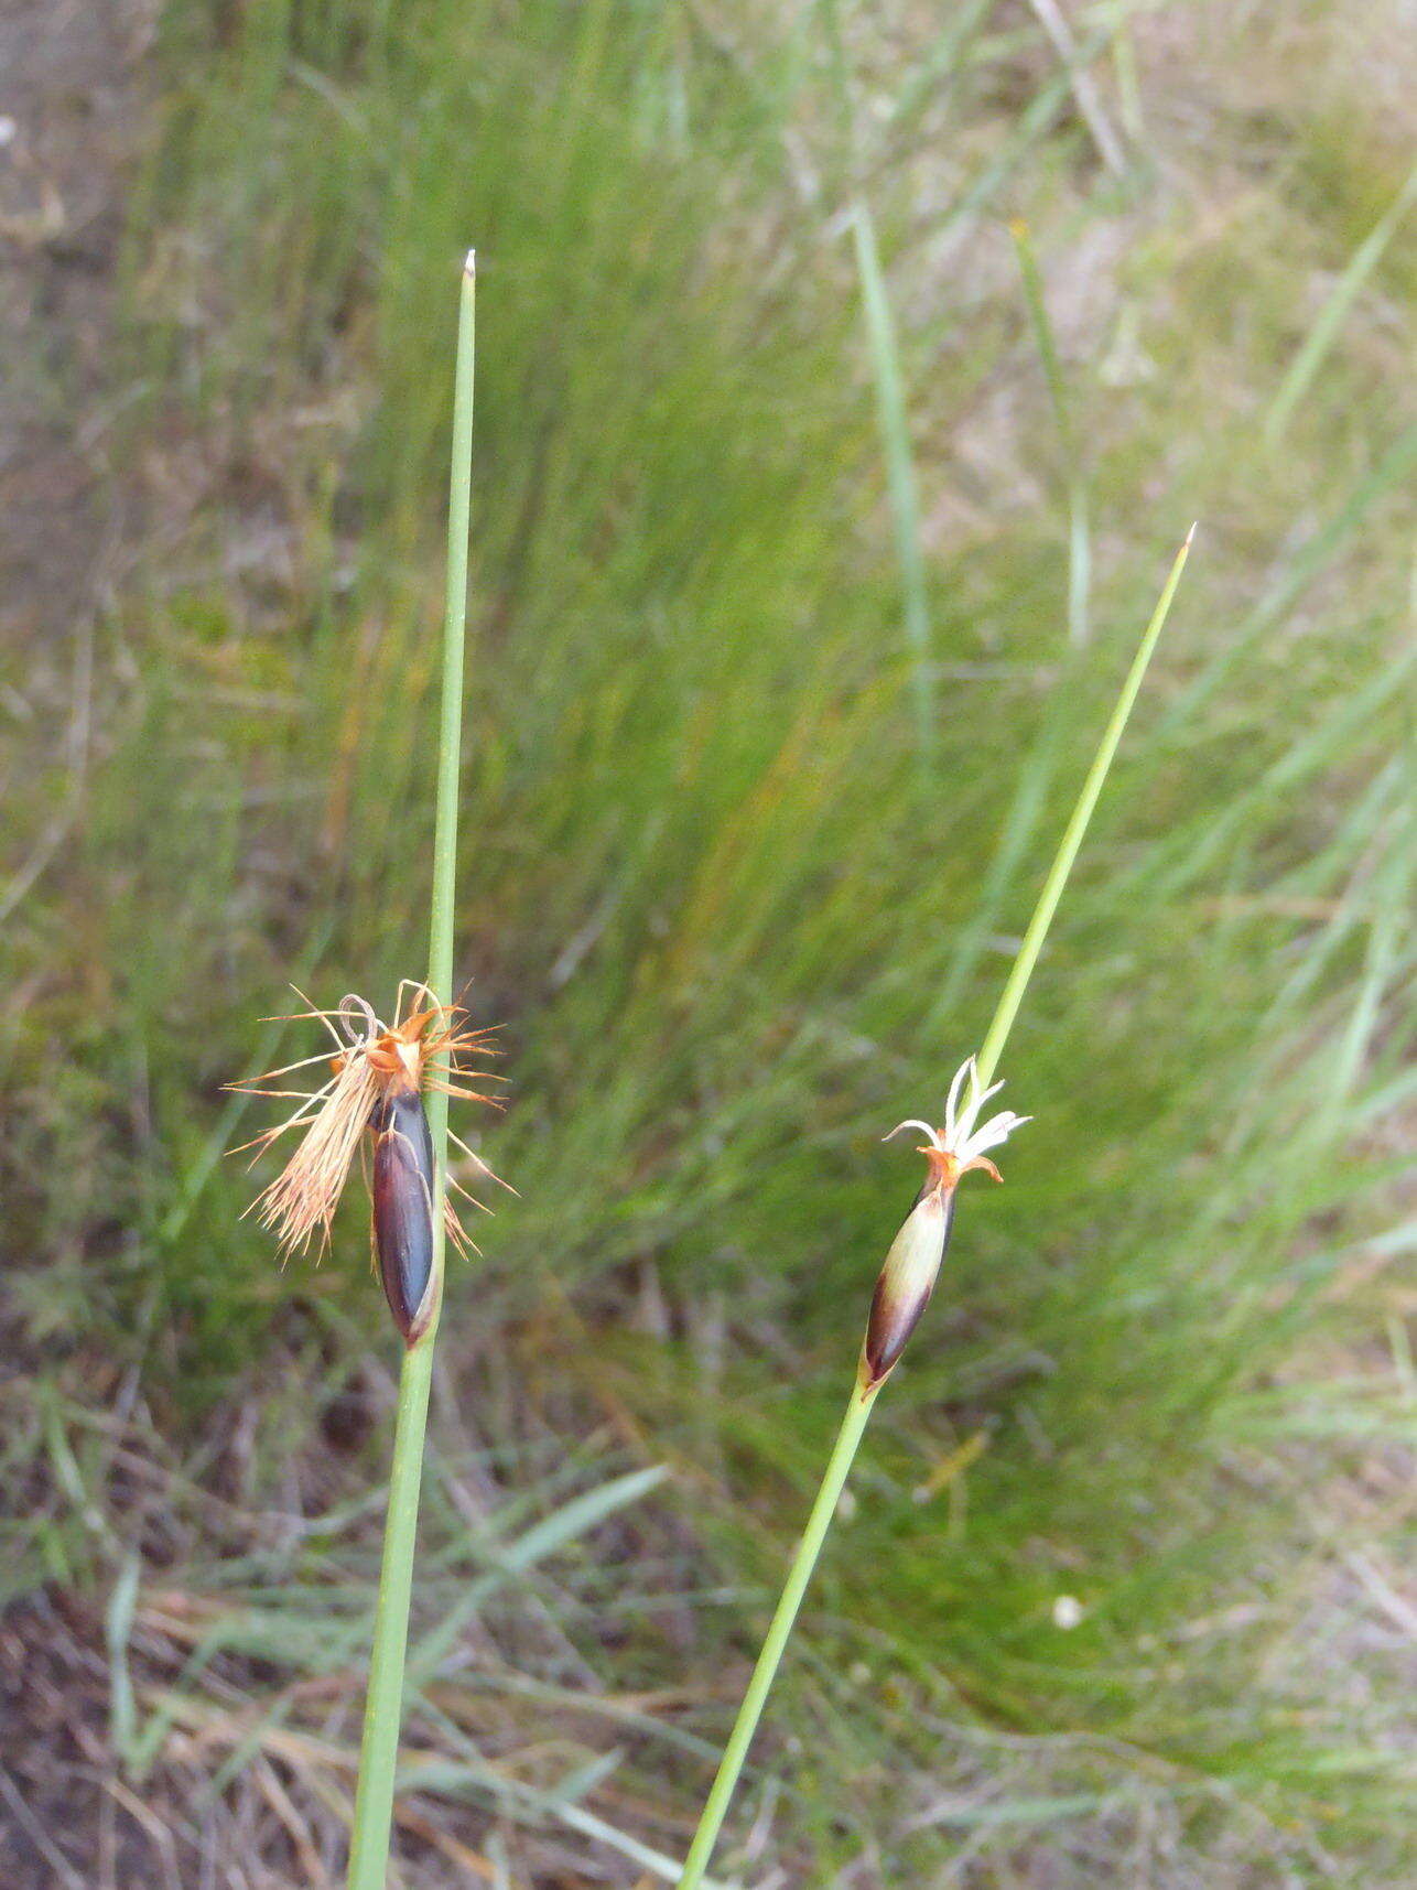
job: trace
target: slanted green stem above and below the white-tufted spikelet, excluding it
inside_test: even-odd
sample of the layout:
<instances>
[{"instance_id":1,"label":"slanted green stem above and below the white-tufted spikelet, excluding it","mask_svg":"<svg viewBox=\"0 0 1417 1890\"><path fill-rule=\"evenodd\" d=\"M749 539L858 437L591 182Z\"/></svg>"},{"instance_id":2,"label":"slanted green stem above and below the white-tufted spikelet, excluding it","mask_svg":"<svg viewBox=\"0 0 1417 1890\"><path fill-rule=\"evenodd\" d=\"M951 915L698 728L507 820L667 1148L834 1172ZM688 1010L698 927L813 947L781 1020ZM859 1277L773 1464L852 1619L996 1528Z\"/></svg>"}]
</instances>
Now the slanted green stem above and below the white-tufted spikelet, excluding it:
<instances>
[{"instance_id":1,"label":"slanted green stem above and below the white-tufted spikelet, excluding it","mask_svg":"<svg viewBox=\"0 0 1417 1890\"><path fill-rule=\"evenodd\" d=\"M1009 1028L1018 1015L1018 1002L1024 996L1030 973L1037 964L1037 954L1043 949L1049 924L1058 909L1058 900L1062 898L1064 885L1067 883L1067 873L1077 858L1077 849L1083 843L1088 818L1092 816L1092 809L1098 805L1101 784L1107 777L1111 760L1117 754L1117 743L1122 739L1126 718L1132 713L1132 703L1141 688L1141 677L1151 662L1151 652L1156 648L1156 639L1166 624L1166 614L1171 609L1171 599L1175 597L1175 588L1181 582L1181 571L1185 569L1187 552L1190 550L1194 533L1196 527L1192 525L1187 533L1187 542L1177 552L1171 575L1166 580L1166 588L1162 590L1160 601L1141 637L1141 644L1132 669L1128 671L1126 682L1122 684L1122 692L1117 697L1117 707L1113 709L1111 720L1103 730L1096 758L1088 769L1086 781L1083 782L1083 792L1077 798L1073 815L1064 830L1062 841L1058 843L1058 854L1052 862L1049 877L1043 883L1043 892L1039 894L1039 902L1033 909L1033 919L1030 920L1024 943L1015 958L1003 994L999 996L994 1021L984 1038L984 1049L977 1058L977 1081L981 1089L988 1089L990 1075L999 1060ZM763 1705L773 1680L777 1678L777 1669L782 1661L782 1652L788 1644L792 1625L797 1620L797 1608L807 1593L807 1584L812 1578L816 1557L822 1552L822 1542L826 1540L826 1533L831 1527L831 1518L837 1510L837 1499L841 1497L846 1476L850 1474L856 1450L862 1442L871 1408L882 1383L884 1380L867 1389L863 1385L863 1374L858 1372L856 1385L846 1406L846 1416L841 1419L837 1442L831 1446L831 1457L828 1459L822 1484L816 1491L816 1501L812 1503L812 1514L807 1518L807 1529L803 1531L803 1538L792 1557L792 1567L788 1569L788 1580L782 1588L777 1612L769 1624L767 1639L763 1641L761 1654L758 1656L758 1665L748 1680L748 1692L743 1695L743 1705L739 1707L739 1714L733 1722L733 1731L727 1735L724 1756L718 1761L718 1773L714 1775L708 1799L703 1807L699 1828L693 1833L693 1843L690 1845L688 1858L684 1860L684 1873L678 1879L678 1890L697 1890L697 1884L703 1882L703 1873L708 1867L708 1858L712 1856L714 1841L718 1839L718 1831L724 1824L724 1814L727 1813L733 1790L739 1782L743 1761L748 1756L752 1735L758 1729L758 1720L761 1718Z\"/></svg>"}]
</instances>

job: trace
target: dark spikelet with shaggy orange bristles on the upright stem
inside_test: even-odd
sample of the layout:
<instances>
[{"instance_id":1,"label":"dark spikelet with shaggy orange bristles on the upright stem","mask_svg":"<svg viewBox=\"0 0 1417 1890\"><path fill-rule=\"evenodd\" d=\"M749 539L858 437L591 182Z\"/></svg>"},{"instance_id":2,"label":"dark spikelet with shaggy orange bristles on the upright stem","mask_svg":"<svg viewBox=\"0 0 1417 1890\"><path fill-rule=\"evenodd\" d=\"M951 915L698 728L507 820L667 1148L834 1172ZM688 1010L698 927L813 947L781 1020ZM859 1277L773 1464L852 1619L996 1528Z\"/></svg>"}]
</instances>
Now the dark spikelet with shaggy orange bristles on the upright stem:
<instances>
[{"instance_id":1,"label":"dark spikelet with shaggy orange bristles on the upright stem","mask_svg":"<svg viewBox=\"0 0 1417 1890\"><path fill-rule=\"evenodd\" d=\"M461 1060L472 1053L489 1055L491 1032L469 1030L461 1005L438 1004L427 985L414 979L399 985L393 1024L380 1022L374 1007L357 994L342 998L334 1011L321 1011L312 1004L308 1011L283 1021L300 1019L321 1022L334 1040L329 1081L310 1092L268 1087L280 1077L325 1062L327 1053L321 1051L251 1083L232 1085L255 1096L295 1096L300 1104L283 1123L246 1143L259 1157L289 1130L304 1130L295 1155L251 1206L261 1225L276 1234L282 1259L308 1251L316 1236L323 1253L355 1149L368 1134L374 1149L374 1251L395 1325L412 1346L427 1331L442 1291L442 1281L435 1278L435 1164L423 1092L501 1108L495 1096L459 1081L497 1081L489 1072L469 1070ZM461 1136L450 1130L448 1140L476 1174L499 1179ZM461 1181L450 1177L450 1187L474 1206L484 1206ZM448 1238L459 1253L467 1253L472 1242L446 1194L442 1213Z\"/></svg>"}]
</instances>

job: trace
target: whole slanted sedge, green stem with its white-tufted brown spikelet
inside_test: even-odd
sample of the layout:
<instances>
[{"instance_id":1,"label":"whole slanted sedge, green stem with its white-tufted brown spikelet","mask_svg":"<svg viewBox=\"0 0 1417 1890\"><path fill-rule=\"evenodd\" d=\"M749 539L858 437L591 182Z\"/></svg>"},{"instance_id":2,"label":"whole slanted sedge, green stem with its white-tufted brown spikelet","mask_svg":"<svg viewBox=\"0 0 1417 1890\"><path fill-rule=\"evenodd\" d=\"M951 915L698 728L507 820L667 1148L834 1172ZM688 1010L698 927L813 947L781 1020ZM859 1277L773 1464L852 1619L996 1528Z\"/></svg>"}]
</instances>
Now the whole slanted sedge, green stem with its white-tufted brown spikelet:
<instances>
[{"instance_id":1,"label":"whole slanted sedge, green stem with its white-tufted brown spikelet","mask_svg":"<svg viewBox=\"0 0 1417 1890\"><path fill-rule=\"evenodd\" d=\"M773 1612L773 1620L769 1622L758 1663L752 1671L752 1678L748 1680L748 1688L743 1695L737 1718L733 1720L724 1754L718 1761L718 1771L708 1790L699 1826L693 1833L693 1843L690 1845L684 1860L678 1890L697 1890L697 1886L705 1881L705 1871L727 1814L727 1807L733 1799L739 1775L743 1773L748 1746L752 1744L767 1695L782 1663L782 1654L786 1652L792 1637L797 1610L801 1608L803 1595L807 1593L807 1584L812 1578L816 1559L822 1554L822 1544L826 1542L828 1529L831 1527L831 1518L837 1512L841 1491L846 1484L846 1476L850 1474L862 1436L865 1435L875 1400L901 1357L905 1344L933 1291L954 1225L956 1187L971 1170L984 1170L994 1176L994 1179L999 1179L999 1174L992 1160L988 1160L986 1151L998 1149L1015 1128L1028 1121L1028 1117L1015 1115L1013 1111L1003 1111L984 1123L979 1123L979 1115L984 1102L988 1102L988 1098L1001 1087L994 1083L994 1072L998 1070L1003 1045L1007 1043L1009 1032L1018 1015L1018 1005L1028 990L1028 981L1037 966L1043 941L1049 936L1049 926L1058 911L1058 902L1062 900L1064 886L1067 885L1067 875L1073 869L1088 822L1098 805L1098 798L1122 739L1128 716L1132 714L1132 705L1137 699L1152 650L1156 648L1156 641L1160 639L1169 614L1171 599L1175 597L1181 573L1190 552L1194 529L1196 527L1192 525L1185 544L1175 556L1166 586L1156 601L1156 609L1151 614L1151 622L1147 624L1135 658L1132 660L1132 667L1122 682L1122 690L1117 697L1107 728L1103 730L1073 813L1064 828L1052 866L1043 881L1043 890L1039 892L1037 905L1033 907L1033 917L1028 922L1028 932L1024 934L1024 941L1018 947L1018 954L1015 956L1003 992L999 994L999 1002L984 1034L982 1047L954 1077L943 1128L933 1128L928 1123L913 1119L901 1123L890 1132L894 1136L899 1128L920 1128L926 1136L920 1153L926 1157L930 1172L926 1185L907 1215L905 1225L892 1242L886 1263L880 1270L875 1297L871 1300L862 1357L856 1368L856 1382L846 1402L846 1414L841 1419L841 1429L837 1431L837 1440L831 1446L831 1455L826 1470L822 1472L822 1482L812 1501L807 1527L803 1529L801 1540L797 1542L797 1550L788 1567L788 1576L782 1584L782 1593Z\"/></svg>"}]
</instances>

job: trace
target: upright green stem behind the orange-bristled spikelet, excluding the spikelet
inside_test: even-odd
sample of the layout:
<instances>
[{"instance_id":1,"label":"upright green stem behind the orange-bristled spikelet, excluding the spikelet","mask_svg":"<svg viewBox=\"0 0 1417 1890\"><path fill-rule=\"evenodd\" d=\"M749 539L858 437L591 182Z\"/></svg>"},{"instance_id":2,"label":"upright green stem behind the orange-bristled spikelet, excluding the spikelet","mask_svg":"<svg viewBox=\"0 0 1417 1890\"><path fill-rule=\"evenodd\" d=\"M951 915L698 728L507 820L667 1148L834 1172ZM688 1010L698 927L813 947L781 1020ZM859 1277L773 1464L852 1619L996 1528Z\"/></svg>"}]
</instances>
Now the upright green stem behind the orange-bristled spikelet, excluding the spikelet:
<instances>
[{"instance_id":1,"label":"upright green stem behind the orange-bristled spikelet, excluding the spikelet","mask_svg":"<svg viewBox=\"0 0 1417 1890\"><path fill-rule=\"evenodd\" d=\"M467 535L472 505L472 363L476 278L472 255L463 268L457 316L457 384L453 391L453 459L448 495L448 610L442 643L442 722L438 733L438 811L433 835L433 900L429 924L429 990L440 1002L453 983L453 892L457 879L457 779L463 743L463 641L467 629ZM442 1196L448 1166L448 1098L427 1098L436 1202L433 1213L433 1278L442 1300ZM359 1752L353 1830L350 1833L350 1890L384 1890L393 1822L393 1775L402 1720L408 1601L414 1588L418 1495L423 1480L423 1433L433 1383L433 1338L438 1312L404 1353L399 1376L399 1416L389 1470L389 1514L384 1523L384 1563L374 1608L374 1648L368 1665L365 1739Z\"/></svg>"}]
</instances>

